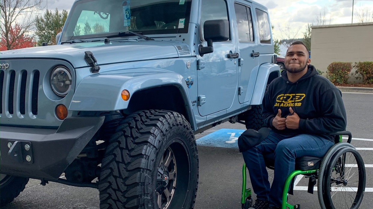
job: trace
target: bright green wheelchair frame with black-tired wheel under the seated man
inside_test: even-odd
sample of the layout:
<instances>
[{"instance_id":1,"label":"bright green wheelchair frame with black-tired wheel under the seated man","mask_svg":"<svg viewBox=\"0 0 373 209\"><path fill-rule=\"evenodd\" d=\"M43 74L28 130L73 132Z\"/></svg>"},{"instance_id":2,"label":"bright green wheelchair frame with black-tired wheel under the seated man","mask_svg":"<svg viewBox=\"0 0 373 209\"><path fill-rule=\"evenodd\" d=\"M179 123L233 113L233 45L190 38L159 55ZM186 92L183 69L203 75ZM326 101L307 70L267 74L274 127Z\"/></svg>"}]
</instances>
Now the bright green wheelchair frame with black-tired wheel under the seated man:
<instances>
[{"instance_id":1,"label":"bright green wheelchair frame with black-tired wheel under the seated man","mask_svg":"<svg viewBox=\"0 0 373 209\"><path fill-rule=\"evenodd\" d=\"M351 140L352 140L352 135L351 135L351 132L349 131L341 131L341 132L336 132L336 133L333 133L333 134L330 134L330 135L333 135L335 136L335 145L329 149L329 151L327 152L327 154L329 154L330 151L333 151L330 156L337 156L335 153L338 152L338 149L336 150L332 150L334 147L338 146L338 145L341 145L339 146L340 148L339 149L342 149L344 147L352 147L353 149L355 149L352 145L349 145L347 146L347 144L350 144L351 143ZM342 136L343 135L347 135L348 136L348 140L347 140L347 143L345 142L342 142ZM356 149L355 149L356 150ZM357 151L356 151L357 152ZM357 193L357 196L358 197L358 202L354 202L352 204L352 207L353 209L356 209L360 206L360 203L361 203L361 200L363 199L363 195L364 195L364 190L365 190L365 184L366 184L366 173L365 173L365 165L364 165L364 162L361 158L361 155L358 154L357 152L357 155L358 156L355 156L355 157L360 157L358 160L360 161L360 167L358 168L359 169L359 186L358 188L360 189L360 193ZM325 160L326 158L326 155L324 156L323 158L323 161ZM329 157L329 161L332 161L333 159L331 159L332 157ZM325 165L327 165L327 162L325 163ZM323 163L320 167L323 166ZM333 168L334 169L334 168ZM344 165L343 165L343 169L344 169ZM291 205L287 202L288 198L288 193L289 193L289 188L292 186L292 183L294 183L294 178L298 175L301 175L301 174L304 174L304 175L308 175L308 177L310 177L310 175L314 175L313 176L313 180L314 180L314 183L311 187L312 191L313 191L313 186L316 184L316 179L318 179L319 177L319 171L320 171L320 168L319 169L316 169L316 170L306 170L306 171L302 171L302 170L295 170L293 171L289 176L288 178L286 179L285 181L285 187L283 189L283 194L282 194L282 209L300 209L300 204L297 204L297 205ZM344 171L343 171L344 172ZM311 176L312 177L312 176ZM360 179L361 177L361 179ZM324 178L322 180L325 180ZM361 182L360 182L361 181ZM311 178L310 178L310 182L311 182ZM310 184L308 185L309 188L308 188L308 192L310 192ZM358 191L359 192L359 191ZM310 192L311 193L311 192ZM313 192L312 192L313 193ZM252 192L251 192L251 189L247 189L246 188L246 164L244 163L244 165L242 166L242 196L241 196L241 205L242 205L242 209L247 209L247 208L250 208L250 206L252 205L252 202L253 202L253 199L252 199ZM319 197L320 197L320 194L319 194ZM322 206L323 203L322 203L323 200L320 200L319 199L319 202L320 202L320 205L322 208L330 208L331 206ZM332 207L334 208L334 206Z\"/></svg>"}]
</instances>

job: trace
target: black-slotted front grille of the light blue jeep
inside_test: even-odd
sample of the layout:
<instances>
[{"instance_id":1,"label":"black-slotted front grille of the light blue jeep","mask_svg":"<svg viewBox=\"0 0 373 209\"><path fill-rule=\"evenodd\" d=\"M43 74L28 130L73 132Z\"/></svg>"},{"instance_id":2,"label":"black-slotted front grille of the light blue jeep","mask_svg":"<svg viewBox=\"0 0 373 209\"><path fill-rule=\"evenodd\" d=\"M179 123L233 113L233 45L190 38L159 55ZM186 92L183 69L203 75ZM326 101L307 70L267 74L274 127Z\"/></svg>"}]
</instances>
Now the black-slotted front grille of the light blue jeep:
<instances>
[{"instance_id":1,"label":"black-slotted front grille of the light blue jeep","mask_svg":"<svg viewBox=\"0 0 373 209\"><path fill-rule=\"evenodd\" d=\"M34 71L4 71L0 72L0 114L6 114L6 117L11 118L13 115L28 115L31 111L32 115L38 114L38 88L40 72ZM31 95L28 95L28 94ZM29 96L29 97L28 97ZM30 98L31 97L31 98ZM28 104L27 98L31 104ZM27 109L27 107L29 107Z\"/></svg>"}]
</instances>

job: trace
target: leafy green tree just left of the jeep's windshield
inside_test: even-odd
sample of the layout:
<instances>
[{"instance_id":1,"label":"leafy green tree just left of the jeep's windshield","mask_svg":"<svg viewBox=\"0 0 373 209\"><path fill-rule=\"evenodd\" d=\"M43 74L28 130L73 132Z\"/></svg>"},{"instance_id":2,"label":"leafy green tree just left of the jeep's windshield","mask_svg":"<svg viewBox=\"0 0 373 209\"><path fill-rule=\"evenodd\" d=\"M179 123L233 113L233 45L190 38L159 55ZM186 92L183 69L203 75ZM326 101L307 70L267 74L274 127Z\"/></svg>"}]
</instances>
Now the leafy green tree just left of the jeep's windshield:
<instances>
[{"instance_id":1,"label":"leafy green tree just left of the jeep's windshield","mask_svg":"<svg viewBox=\"0 0 373 209\"><path fill-rule=\"evenodd\" d=\"M58 12L58 9L47 10L43 16L37 16L35 19L36 31L35 34L38 36L38 45L41 46L43 42L47 42L48 45L56 44L56 35L62 31L63 25L68 17L68 12L62 10L62 13Z\"/></svg>"}]
</instances>

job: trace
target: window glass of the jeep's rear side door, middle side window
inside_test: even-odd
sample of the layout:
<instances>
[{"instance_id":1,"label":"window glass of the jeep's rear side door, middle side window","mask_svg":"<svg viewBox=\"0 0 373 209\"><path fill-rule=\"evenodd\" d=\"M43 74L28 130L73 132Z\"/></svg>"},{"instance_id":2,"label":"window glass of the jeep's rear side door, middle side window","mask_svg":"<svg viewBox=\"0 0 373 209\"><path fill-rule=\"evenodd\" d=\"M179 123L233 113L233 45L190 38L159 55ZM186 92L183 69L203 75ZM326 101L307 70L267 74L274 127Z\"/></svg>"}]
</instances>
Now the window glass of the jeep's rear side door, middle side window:
<instances>
[{"instance_id":1,"label":"window glass of the jeep's rear side door, middle side window","mask_svg":"<svg viewBox=\"0 0 373 209\"><path fill-rule=\"evenodd\" d=\"M253 22L251 22L250 7L242 4L234 4L236 13L238 39L240 42L253 42Z\"/></svg>"}]
</instances>

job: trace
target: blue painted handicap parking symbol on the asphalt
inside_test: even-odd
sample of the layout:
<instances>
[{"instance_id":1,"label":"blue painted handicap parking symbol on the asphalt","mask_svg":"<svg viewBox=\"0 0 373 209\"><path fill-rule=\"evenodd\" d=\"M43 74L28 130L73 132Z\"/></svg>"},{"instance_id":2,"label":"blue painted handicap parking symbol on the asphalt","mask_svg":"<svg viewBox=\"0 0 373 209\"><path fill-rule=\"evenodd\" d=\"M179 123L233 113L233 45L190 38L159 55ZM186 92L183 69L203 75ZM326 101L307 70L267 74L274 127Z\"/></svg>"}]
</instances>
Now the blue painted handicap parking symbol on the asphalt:
<instances>
[{"instance_id":1,"label":"blue painted handicap parking symbol on the asphalt","mask_svg":"<svg viewBox=\"0 0 373 209\"><path fill-rule=\"evenodd\" d=\"M238 149L238 136L245 130L222 128L197 139L197 145Z\"/></svg>"}]
</instances>

